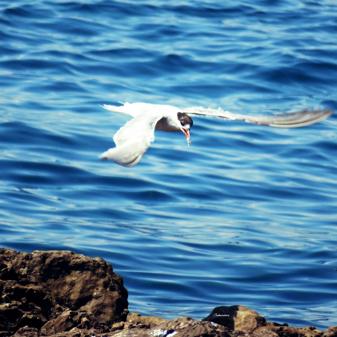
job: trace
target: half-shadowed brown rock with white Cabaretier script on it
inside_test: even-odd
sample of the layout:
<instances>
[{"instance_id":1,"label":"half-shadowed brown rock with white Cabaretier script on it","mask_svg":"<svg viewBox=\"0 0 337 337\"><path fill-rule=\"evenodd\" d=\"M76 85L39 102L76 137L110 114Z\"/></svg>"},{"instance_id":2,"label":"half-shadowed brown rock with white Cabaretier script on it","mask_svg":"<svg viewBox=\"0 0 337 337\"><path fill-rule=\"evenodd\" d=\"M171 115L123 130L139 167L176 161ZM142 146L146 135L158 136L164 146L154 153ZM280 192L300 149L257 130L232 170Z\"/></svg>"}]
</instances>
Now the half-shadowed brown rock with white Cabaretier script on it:
<instances>
[{"instance_id":1,"label":"half-shadowed brown rock with white Cabaretier script on it","mask_svg":"<svg viewBox=\"0 0 337 337\"><path fill-rule=\"evenodd\" d=\"M243 305L216 307L203 320L221 324L230 330L243 332L252 332L267 324L264 317Z\"/></svg>"}]
</instances>

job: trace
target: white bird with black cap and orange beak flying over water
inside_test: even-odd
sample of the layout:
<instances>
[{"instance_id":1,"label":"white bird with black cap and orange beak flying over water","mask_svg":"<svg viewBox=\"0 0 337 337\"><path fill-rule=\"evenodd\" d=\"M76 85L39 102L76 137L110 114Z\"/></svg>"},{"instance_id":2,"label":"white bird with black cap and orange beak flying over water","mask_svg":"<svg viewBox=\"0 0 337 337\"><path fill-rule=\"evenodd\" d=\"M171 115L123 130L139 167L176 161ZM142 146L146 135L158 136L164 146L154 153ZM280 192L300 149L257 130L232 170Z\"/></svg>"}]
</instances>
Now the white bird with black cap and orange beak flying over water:
<instances>
[{"instance_id":1,"label":"white bird with black cap and orange beak flying over water","mask_svg":"<svg viewBox=\"0 0 337 337\"><path fill-rule=\"evenodd\" d=\"M274 127L306 126L324 120L333 114L332 110L327 109L302 110L296 113L254 117L233 114L221 108L216 110L193 107L181 110L172 105L150 103L125 103L122 106L104 104L102 107L133 117L114 135L113 139L116 147L100 155L102 159L111 159L123 166L136 165L142 159L147 148L150 146L150 142L154 141L154 130L166 132L183 131L189 146L189 143L191 143L190 127L193 125L193 121L187 114L217 116Z\"/></svg>"}]
</instances>

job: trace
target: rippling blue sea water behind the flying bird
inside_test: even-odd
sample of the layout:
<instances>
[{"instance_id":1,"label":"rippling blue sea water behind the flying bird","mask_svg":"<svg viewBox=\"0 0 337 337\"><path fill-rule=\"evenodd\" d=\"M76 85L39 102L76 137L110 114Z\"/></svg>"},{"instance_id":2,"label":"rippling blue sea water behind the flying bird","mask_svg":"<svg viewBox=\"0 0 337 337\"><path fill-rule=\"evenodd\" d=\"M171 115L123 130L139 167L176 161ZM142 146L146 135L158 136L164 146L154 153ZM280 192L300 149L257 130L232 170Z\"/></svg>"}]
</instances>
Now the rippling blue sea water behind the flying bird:
<instances>
[{"instance_id":1,"label":"rippling blue sea water behind the flying bird","mask_svg":"<svg viewBox=\"0 0 337 337\"><path fill-rule=\"evenodd\" d=\"M335 0L0 2L0 244L110 262L129 310L337 325L337 117L193 117L130 168L119 102L336 109Z\"/></svg>"}]
</instances>

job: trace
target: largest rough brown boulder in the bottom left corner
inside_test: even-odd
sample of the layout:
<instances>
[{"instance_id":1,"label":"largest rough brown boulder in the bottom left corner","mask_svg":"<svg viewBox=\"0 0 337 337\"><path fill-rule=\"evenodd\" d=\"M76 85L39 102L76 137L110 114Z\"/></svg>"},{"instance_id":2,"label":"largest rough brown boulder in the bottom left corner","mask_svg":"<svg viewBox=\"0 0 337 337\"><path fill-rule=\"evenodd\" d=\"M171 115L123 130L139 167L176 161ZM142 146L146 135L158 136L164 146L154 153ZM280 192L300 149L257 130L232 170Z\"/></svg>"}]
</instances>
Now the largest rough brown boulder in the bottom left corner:
<instances>
[{"instance_id":1,"label":"largest rough brown boulder in the bottom left corner","mask_svg":"<svg viewBox=\"0 0 337 337\"><path fill-rule=\"evenodd\" d=\"M0 294L0 336L25 326L46 335L74 327L109 331L127 315L127 290L112 266L70 251L2 248Z\"/></svg>"}]
</instances>

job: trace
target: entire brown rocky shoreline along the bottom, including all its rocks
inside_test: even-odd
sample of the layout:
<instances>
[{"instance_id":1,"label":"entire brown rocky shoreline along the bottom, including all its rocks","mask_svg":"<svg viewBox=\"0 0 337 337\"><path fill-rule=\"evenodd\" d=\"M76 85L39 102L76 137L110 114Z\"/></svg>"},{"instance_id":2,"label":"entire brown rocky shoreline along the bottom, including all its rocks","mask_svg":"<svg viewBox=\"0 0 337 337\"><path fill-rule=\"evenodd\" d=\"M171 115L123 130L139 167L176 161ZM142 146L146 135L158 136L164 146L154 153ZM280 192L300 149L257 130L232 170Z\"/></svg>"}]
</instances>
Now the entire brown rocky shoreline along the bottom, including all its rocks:
<instances>
[{"instance_id":1,"label":"entire brown rocky shoreline along the bottom, including all its rocks","mask_svg":"<svg viewBox=\"0 0 337 337\"><path fill-rule=\"evenodd\" d=\"M0 337L337 337L337 327L293 328L241 306L203 320L128 310L121 276L99 257L71 251L0 250Z\"/></svg>"}]
</instances>

